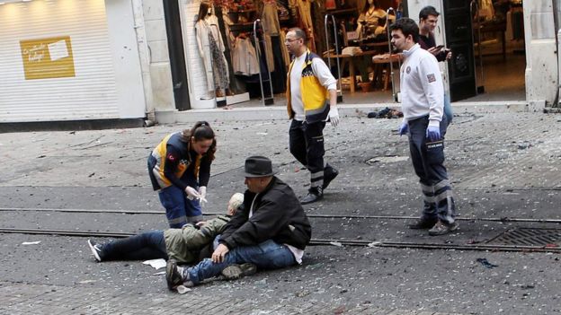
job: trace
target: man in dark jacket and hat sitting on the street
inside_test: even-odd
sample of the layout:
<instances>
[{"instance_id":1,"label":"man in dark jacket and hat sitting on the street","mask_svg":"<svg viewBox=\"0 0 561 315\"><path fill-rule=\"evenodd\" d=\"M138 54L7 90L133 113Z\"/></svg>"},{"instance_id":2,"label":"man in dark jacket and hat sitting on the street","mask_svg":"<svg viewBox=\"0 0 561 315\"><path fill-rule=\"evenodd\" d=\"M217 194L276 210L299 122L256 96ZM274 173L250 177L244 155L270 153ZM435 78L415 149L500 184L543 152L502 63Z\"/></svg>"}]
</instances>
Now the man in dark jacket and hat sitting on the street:
<instances>
[{"instance_id":1,"label":"man in dark jacket and hat sitting on the street","mask_svg":"<svg viewBox=\"0 0 561 315\"><path fill-rule=\"evenodd\" d=\"M200 284L231 265L275 269L302 262L312 229L292 188L274 173L266 157L245 160L243 209L227 223L212 258L189 268L168 261L165 278L170 289Z\"/></svg>"}]
</instances>

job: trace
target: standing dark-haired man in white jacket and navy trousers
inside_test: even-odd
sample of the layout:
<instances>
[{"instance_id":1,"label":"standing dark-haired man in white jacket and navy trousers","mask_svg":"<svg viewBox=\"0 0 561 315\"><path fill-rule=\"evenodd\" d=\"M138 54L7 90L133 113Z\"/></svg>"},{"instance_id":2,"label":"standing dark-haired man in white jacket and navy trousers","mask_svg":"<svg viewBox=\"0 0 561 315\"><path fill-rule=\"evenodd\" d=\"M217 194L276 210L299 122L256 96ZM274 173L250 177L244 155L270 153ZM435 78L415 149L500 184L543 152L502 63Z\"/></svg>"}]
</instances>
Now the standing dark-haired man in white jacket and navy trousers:
<instances>
[{"instance_id":1,"label":"standing dark-haired man in white jacket and navy trousers","mask_svg":"<svg viewBox=\"0 0 561 315\"><path fill-rule=\"evenodd\" d=\"M454 220L452 188L444 167L444 135L448 126L443 115L444 87L436 58L417 43L419 27L409 19L390 27L391 42L405 57L401 66L400 91L404 120L399 134L409 134L414 171L423 190L423 215L411 229L430 229L444 235L458 229Z\"/></svg>"}]
</instances>

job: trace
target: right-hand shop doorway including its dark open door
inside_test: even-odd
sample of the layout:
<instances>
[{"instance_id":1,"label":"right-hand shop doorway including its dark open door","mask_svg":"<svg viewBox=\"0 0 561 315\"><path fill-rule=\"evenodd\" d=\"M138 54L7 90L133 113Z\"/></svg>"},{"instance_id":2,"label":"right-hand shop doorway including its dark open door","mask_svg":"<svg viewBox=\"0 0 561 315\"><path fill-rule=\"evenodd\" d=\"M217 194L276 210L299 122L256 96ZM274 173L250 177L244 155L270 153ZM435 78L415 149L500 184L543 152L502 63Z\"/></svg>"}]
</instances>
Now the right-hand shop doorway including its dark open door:
<instances>
[{"instance_id":1,"label":"right-hand shop doorway including its dark open door","mask_svg":"<svg viewBox=\"0 0 561 315\"><path fill-rule=\"evenodd\" d=\"M522 1L451 3L444 1L446 39L456 52L449 69L451 100L526 100ZM465 39L460 45L459 37Z\"/></svg>"}]
</instances>

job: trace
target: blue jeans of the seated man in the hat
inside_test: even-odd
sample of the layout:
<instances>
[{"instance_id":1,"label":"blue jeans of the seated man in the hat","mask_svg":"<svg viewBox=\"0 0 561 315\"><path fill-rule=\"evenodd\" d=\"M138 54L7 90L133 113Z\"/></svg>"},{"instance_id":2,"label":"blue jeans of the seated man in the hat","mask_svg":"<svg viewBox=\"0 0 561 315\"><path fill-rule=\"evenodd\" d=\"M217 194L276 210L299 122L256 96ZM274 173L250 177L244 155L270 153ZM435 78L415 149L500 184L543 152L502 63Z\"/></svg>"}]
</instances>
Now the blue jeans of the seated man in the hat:
<instances>
[{"instance_id":1,"label":"blue jeans of the seated man in the hat","mask_svg":"<svg viewBox=\"0 0 561 315\"><path fill-rule=\"evenodd\" d=\"M202 280L218 276L222 270L233 264L252 263L258 269L277 269L296 264L292 252L284 245L272 240L263 241L255 246L242 246L228 251L224 262L215 264L206 258L196 266L187 269L189 280L199 284Z\"/></svg>"}]
</instances>

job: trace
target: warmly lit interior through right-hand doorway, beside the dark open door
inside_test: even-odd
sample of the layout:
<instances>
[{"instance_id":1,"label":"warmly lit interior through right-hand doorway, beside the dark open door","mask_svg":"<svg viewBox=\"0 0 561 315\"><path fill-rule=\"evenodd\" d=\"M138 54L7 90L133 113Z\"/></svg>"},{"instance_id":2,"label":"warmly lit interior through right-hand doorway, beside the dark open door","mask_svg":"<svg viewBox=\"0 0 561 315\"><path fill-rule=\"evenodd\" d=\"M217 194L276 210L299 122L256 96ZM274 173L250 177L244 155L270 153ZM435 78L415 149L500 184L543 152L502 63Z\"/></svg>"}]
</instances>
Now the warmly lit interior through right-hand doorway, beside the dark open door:
<instances>
[{"instance_id":1,"label":"warmly lit interior through right-hand doorway, beside the dark open door","mask_svg":"<svg viewBox=\"0 0 561 315\"><path fill-rule=\"evenodd\" d=\"M464 101L526 100L522 0L478 0L473 16L476 85Z\"/></svg>"}]
</instances>

